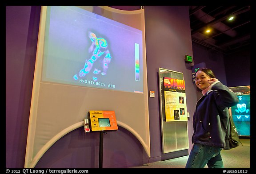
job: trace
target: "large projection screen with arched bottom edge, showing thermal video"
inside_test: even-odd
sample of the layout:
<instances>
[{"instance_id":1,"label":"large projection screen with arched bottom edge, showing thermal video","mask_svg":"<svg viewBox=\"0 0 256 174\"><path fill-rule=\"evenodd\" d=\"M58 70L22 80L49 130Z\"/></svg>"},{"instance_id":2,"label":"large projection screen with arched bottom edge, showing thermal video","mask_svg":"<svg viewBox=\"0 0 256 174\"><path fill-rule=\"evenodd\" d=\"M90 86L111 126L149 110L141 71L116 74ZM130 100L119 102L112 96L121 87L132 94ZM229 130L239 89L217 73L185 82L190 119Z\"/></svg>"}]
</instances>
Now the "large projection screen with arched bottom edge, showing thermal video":
<instances>
[{"instance_id":1,"label":"large projection screen with arched bottom edge, showing thermal video","mask_svg":"<svg viewBox=\"0 0 256 174\"><path fill-rule=\"evenodd\" d=\"M144 9L42 6L25 168L89 110L113 110L150 157Z\"/></svg>"}]
</instances>

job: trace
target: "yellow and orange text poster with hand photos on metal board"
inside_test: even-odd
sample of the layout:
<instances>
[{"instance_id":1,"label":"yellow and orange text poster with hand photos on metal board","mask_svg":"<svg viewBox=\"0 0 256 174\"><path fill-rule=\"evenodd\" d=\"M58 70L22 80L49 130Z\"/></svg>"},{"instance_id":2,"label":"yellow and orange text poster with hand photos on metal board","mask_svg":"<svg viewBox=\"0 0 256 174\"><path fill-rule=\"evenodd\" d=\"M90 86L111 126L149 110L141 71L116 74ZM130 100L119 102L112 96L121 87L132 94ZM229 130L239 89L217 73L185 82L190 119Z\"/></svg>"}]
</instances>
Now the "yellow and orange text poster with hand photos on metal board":
<instances>
[{"instance_id":1,"label":"yellow and orange text poster with hand photos on metal board","mask_svg":"<svg viewBox=\"0 0 256 174\"><path fill-rule=\"evenodd\" d=\"M185 81L170 77L164 79L164 106L166 121L187 121Z\"/></svg>"}]
</instances>

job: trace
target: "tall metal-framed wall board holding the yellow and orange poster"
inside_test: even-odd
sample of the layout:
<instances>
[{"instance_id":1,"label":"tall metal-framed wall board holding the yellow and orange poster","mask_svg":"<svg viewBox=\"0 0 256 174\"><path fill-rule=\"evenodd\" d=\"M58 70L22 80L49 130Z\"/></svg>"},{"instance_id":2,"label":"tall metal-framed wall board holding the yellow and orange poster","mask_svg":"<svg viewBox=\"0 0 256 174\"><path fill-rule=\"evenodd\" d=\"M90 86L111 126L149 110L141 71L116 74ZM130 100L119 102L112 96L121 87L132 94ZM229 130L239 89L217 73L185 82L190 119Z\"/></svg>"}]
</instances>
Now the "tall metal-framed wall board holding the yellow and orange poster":
<instances>
[{"instance_id":1,"label":"tall metal-framed wall board holding the yellow and orange poster","mask_svg":"<svg viewBox=\"0 0 256 174\"><path fill-rule=\"evenodd\" d=\"M187 150L188 121L183 73L159 68L159 96L163 153Z\"/></svg>"}]
</instances>

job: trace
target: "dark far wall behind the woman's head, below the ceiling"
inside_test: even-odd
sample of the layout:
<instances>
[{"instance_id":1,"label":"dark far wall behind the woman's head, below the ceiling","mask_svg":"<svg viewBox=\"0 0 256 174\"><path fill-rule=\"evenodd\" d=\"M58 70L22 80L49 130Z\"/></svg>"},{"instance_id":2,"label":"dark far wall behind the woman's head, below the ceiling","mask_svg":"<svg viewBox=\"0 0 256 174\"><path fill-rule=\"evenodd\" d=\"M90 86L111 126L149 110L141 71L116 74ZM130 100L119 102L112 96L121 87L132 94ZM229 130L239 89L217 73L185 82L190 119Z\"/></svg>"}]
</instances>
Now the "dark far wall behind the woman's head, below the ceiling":
<instances>
[{"instance_id":1,"label":"dark far wall behind the woman's head, below the ceiling","mask_svg":"<svg viewBox=\"0 0 256 174\"><path fill-rule=\"evenodd\" d=\"M221 54L208 50L193 43L193 58L195 65L205 62L206 67L213 70L216 77L228 87L250 85L250 49L233 54Z\"/></svg>"}]
</instances>

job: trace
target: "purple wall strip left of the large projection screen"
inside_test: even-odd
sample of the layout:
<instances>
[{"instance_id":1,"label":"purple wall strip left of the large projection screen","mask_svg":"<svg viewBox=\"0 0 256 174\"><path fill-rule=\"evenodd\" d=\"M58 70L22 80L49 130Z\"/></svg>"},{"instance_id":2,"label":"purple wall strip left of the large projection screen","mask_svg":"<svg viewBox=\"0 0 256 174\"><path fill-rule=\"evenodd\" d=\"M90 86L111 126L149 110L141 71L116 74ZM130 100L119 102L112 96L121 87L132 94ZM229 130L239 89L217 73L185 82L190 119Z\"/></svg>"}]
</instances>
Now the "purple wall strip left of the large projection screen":
<instances>
[{"instance_id":1,"label":"purple wall strip left of the large projection screen","mask_svg":"<svg viewBox=\"0 0 256 174\"><path fill-rule=\"evenodd\" d=\"M40 7L6 6L6 167L24 167Z\"/></svg>"}]
</instances>

